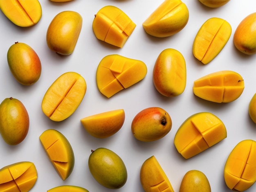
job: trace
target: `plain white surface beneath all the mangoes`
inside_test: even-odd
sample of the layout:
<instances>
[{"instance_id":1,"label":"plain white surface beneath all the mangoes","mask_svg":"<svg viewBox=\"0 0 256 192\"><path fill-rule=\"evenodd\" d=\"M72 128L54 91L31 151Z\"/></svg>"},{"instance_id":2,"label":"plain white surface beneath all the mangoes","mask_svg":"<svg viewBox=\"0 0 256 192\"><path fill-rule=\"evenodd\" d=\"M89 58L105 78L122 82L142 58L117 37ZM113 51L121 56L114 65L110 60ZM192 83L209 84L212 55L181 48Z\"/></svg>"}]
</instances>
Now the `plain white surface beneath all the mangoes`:
<instances>
[{"instance_id":1,"label":"plain white surface beneath all the mangoes","mask_svg":"<svg viewBox=\"0 0 256 192\"><path fill-rule=\"evenodd\" d=\"M175 192L189 170L200 170L206 174L213 192L231 191L227 188L223 169L227 157L235 145L244 139L256 140L255 124L249 118L249 101L256 92L256 57L246 56L236 50L233 35L245 16L256 11L255 0L231 0L223 7L210 9L197 0L184 0L189 9L189 22L179 33L169 38L148 36L142 23L159 6L156 0L74 0L53 3L40 0L43 16L37 25L30 28L17 27L0 13L0 100L18 98L27 108L30 117L29 133L22 143L9 146L0 137L0 167L19 161L31 161L36 165L38 180L32 192L47 191L58 185L77 185L90 192L112 191L99 185L88 169L91 149L106 147L116 152L126 164L128 180L120 192L142 192L139 171L142 163L155 155ZM97 40L92 31L94 14L103 6L114 5L123 10L137 24L123 48L115 48ZM59 56L47 47L45 36L54 16L65 10L77 11L83 17L83 27L74 53ZM227 20L232 33L220 54L209 64L203 65L193 57L192 44L201 25L211 17ZM30 87L20 85L11 75L7 65L7 51L16 41L27 43L40 57L42 74L38 82ZM159 53L166 48L180 51L187 67L186 89L175 98L161 96L153 86L152 71ZM109 54L120 54L142 60L148 67L148 74L141 82L106 98L97 89L95 74L100 60ZM243 76L245 89L234 102L211 103L193 95L193 81L201 76L220 70L233 70ZM53 122L41 110L42 98L50 85L61 74L76 71L86 80L87 92L72 116L63 122ZM131 133L130 125L134 116L146 107L158 106L171 116L173 126L164 138L151 143L137 141ZM80 119L93 114L123 108L126 119L123 127L115 135L98 139L90 136L80 123ZM186 118L197 112L211 112L218 116L227 128L227 138L191 159L184 159L175 149L173 139L177 129ZM74 170L70 177L62 181L50 163L39 136L46 129L56 129L70 141L75 155ZM255 192L254 184L248 192Z\"/></svg>"}]
</instances>

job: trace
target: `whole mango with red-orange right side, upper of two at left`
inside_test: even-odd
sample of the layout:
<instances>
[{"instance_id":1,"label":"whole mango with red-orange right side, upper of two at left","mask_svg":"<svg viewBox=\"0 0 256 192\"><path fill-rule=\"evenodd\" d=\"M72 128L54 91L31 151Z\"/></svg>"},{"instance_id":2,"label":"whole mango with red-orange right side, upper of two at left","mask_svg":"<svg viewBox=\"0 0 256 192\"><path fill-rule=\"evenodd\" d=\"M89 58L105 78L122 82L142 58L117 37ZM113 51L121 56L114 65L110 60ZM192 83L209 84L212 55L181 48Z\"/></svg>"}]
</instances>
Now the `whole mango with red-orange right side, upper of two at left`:
<instances>
[{"instance_id":1,"label":"whole mango with red-orange right side, upper of two at left","mask_svg":"<svg viewBox=\"0 0 256 192\"><path fill-rule=\"evenodd\" d=\"M22 42L15 42L7 52L7 63L13 77L22 85L33 85L42 67L36 51Z\"/></svg>"}]
</instances>

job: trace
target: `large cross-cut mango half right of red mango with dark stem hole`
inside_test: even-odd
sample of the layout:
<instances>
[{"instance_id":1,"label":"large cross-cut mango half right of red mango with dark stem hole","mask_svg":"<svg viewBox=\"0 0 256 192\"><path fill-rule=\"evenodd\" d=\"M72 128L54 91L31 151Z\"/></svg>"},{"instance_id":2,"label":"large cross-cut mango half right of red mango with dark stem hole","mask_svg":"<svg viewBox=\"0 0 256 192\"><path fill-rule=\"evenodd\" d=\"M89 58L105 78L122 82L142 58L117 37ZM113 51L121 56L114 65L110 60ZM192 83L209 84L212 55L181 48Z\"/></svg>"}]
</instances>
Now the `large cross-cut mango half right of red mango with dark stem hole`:
<instances>
[{"instance_id":1,"label":"large cross-cut mango half right of red mango with dark stem hole","mask_svg":"<svg viewBox=\"0 0 256 192\"><path fill-rule=\"evenodd\" d=\"M224 123L209 112L200 112L187 118L177 130L174 145L189 159L227 137Z\"/></svg>"}]
</instances>

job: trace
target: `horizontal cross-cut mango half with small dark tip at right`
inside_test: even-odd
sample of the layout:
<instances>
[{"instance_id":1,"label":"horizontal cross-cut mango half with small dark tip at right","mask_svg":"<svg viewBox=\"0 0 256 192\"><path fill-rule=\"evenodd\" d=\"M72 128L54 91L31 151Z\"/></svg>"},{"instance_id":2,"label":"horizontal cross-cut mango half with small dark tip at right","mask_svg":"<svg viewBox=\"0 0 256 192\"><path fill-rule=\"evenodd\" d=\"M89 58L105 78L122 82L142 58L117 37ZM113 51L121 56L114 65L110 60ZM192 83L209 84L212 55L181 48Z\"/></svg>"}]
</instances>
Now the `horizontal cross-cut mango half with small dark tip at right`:
<instances>
[{"instance_id":1,"label":"horizontal cross-cut mango half with small dark tip at right","mask_svg":"<svg viewBox=\"0 0 256 192\"><path fill-rule=\"evenodd\" d=\"M244 80L234 71L217 71L194 81L196 96L215 103L229 103L243 93Z\"/></svg>"}]
</instances>

